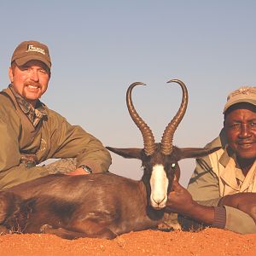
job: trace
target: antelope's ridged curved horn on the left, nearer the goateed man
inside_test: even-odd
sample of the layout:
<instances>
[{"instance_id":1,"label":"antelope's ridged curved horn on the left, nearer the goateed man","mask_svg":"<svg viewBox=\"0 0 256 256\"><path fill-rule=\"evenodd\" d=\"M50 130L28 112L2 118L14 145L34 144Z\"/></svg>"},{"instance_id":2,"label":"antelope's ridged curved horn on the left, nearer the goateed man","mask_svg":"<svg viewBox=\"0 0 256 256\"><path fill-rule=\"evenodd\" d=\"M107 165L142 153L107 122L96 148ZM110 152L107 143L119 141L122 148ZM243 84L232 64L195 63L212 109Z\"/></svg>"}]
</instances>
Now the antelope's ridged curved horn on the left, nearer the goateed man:
<instances>
[{"instance_id":1,"label":"antelope's ridged curved horn on the left, nearer the goateed man","mask_svg":"<svg viewBox=\"0 0 256 256\"><path fill-rule=\"evenodd\" d=\"M140 129L143 134L143 144L144 144L144 151L147 155L154 154L155 144L154 144L154 136L148 125L143 121L143 119L138 115L137 111L135 110L133 103L131 101L131 90L136 85L146 85L142 82L136 82L131 84L126 92L126 105L131 115L131 119Z\"/></svg>"}]
</instances>

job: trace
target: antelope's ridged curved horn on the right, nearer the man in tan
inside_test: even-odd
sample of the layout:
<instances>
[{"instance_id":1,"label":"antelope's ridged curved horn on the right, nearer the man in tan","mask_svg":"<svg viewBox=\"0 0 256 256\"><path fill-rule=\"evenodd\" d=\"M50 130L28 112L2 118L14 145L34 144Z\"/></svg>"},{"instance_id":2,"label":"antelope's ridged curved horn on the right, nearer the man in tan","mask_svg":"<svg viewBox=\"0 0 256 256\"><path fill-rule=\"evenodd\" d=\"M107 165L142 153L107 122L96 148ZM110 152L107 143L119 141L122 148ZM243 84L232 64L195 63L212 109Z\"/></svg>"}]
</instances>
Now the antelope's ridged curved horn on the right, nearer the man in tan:
<instances>
[{"instance_id":1,"label":"antelope's ridged curved horn on the right, nearer the man in tan","mask_svg":"<svg viewBox=\"0 0 256 256\"><path fill-rule=\"evenodd\" d=\"M172 80L168 81L167 83L172 83L172 82L177 83L181 86L181 88L183 90L183 99L182 99L180 107L177 110L176 115L174 116L172 121L166 126L166 130L164 131L164 134L163 134L163 137L161 140L161 152L163 154L171 154L172 153L173 135L177 129L177 125L179 125L179 123L183 119L183 116L186 112L186 109L188 106L188 101L189 101L189 94L188 94L186 85L183 84L183 82L178 79L172 79Z\"/></svg>"}]
</instances>

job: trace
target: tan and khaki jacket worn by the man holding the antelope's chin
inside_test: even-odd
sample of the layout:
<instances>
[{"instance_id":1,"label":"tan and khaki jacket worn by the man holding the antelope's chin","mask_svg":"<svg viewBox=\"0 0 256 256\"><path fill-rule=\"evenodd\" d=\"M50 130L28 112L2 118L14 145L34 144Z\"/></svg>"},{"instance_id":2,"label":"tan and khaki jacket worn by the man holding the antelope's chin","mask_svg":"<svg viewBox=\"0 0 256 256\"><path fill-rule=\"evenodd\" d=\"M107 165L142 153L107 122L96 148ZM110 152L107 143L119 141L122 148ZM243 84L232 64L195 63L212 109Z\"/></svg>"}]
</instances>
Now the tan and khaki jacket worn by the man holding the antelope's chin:
<instances>
[{"instance_id":1,"label":"tan and khaki jacket worn by the man holding the antelope's chin","mask_svg":"<svg viewBox=\"0 0 256 256\"><path fill-rule=\"evenodd\" d=\"M250 180L245 179L241 170L230 167L234 156L225 148L224 131L220 137L207 144L207 148L223 146L217 152L196 160L195 172L189 180L188 190L193 199L206 206L218 206L219 199L238 192L256 192L256 163L248 172ZM255 177L255 178L254 178ZM236 178L241 182L238 186ZM256 233L256 224L247 213L233 207L225 207L225 229L241 234Z\"/></svg>"}]
</instances>

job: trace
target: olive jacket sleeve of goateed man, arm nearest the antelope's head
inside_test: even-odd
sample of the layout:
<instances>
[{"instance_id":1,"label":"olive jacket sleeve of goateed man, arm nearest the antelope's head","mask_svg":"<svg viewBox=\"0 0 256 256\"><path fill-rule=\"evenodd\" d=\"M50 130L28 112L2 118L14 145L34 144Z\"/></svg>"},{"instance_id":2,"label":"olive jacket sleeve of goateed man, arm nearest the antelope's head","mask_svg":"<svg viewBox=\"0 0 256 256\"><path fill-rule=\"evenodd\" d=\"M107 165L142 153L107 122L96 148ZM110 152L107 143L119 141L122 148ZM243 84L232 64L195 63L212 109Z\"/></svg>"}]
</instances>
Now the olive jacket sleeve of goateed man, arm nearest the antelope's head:
<instances>
[{"instance_id":1,"label":"olive jacket sleeve of goateed man, arm nearest the antelope's head","mask_svg":"<svg viewBox=\"0 0 256 256\"><path fill-rule=\"evenodd\" d=\"M50 110L48 131L50 131L51 158L77 158L77 167L90 166L92 172L107 172L111 164L108 149L79 125L70 125L60 114Z\"/></svg>"}]
</instances>

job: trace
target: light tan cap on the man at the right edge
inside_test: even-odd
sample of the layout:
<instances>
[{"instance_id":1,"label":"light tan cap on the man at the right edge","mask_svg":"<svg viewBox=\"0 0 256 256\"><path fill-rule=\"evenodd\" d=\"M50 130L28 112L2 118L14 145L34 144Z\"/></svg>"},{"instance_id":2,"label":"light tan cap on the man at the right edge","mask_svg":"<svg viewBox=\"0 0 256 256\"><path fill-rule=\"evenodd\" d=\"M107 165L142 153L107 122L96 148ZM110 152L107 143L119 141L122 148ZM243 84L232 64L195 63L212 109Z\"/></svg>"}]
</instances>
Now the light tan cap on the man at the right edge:
<instances>
[{"instance_id":1,"label":"light tan cap on the man at the right edge","mask_svg":"<svg viewBox=\"0 0 256 256\"><path fill-rule=\"evenodd\" d=\"M224 106L224 112L236 103L247 102L256 106L256 87L243 86L234 90L227 97L227 102Z\"/></svg>"}]
</instances>

